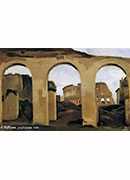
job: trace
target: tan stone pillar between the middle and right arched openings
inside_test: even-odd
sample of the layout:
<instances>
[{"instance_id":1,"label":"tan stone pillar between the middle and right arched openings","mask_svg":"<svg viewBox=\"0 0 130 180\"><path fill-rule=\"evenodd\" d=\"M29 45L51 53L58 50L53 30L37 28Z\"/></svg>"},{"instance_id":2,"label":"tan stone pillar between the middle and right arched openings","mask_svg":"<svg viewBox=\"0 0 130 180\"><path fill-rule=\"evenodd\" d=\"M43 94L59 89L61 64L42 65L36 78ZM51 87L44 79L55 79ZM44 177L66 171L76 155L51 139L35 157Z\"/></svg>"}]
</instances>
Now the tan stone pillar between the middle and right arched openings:
<instances>
[{"instance_id":1,"label":"tan stone pillar between the middle and right arched openings","mask_svg":"<svg viewBox=\"0 0 130 180\"><path fill-rule=\"evenodd\" d=\"M95 98L95 78L91 73L84 75L81 85L83 125L97 127L97 106Z\"/></svg>"}]
</instances>

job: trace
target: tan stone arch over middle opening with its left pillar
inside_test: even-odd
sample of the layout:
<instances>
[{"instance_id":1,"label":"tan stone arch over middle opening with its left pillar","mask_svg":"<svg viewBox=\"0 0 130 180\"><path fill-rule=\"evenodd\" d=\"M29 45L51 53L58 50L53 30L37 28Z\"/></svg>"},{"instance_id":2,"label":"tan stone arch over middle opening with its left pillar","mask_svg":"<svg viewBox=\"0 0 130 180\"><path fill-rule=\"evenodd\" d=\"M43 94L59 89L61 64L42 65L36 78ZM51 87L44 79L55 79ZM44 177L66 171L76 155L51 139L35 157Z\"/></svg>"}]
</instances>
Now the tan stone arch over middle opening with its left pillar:
<instances>
[{"instance_id":1,"label":"tan stone arch over middle opening with its left pillar","mask_svg":"<svg viewBox=\"0 0 130 180\"><path fill-rule=\"evenodd\" d=\"M86 67L79 59L43 59L32 67L33 70L33 122L34 124L49 124L48 118L48 74L53 67L60 64L70 64L80 72L81 82L84 80ZM36 71L38 69L38 72ZM84 83L85 84L85 83Z\"/></svg>"}]
</instances>

